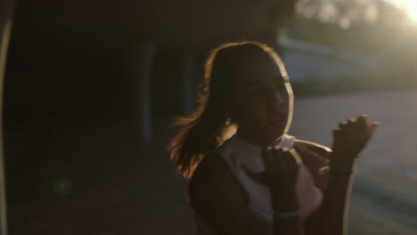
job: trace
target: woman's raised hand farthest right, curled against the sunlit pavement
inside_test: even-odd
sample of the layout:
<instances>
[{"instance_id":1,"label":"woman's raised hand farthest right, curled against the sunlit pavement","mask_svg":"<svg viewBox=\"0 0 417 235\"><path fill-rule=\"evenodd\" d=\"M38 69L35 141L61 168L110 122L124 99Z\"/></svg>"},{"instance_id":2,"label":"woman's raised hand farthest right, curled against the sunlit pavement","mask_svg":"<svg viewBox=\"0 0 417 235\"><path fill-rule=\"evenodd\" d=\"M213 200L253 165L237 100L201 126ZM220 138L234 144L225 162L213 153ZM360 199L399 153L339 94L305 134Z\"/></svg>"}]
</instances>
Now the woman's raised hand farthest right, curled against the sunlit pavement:
<instances>
[{"instance_id":1,"label":"woman's raised hand farthest right, curled against the sunlit pavement","mask_svg":"<svg viewBox=\"0 0 417 235\"><path fill-rule=\"evenodd\" d=\"M369 124L366 115L339 123L339 128L333 130L332 170L353 166L378 125L376 122Z\"/></svg>"}]
</instances>

